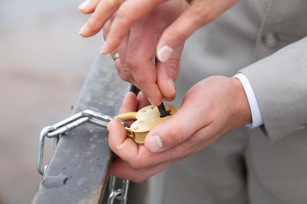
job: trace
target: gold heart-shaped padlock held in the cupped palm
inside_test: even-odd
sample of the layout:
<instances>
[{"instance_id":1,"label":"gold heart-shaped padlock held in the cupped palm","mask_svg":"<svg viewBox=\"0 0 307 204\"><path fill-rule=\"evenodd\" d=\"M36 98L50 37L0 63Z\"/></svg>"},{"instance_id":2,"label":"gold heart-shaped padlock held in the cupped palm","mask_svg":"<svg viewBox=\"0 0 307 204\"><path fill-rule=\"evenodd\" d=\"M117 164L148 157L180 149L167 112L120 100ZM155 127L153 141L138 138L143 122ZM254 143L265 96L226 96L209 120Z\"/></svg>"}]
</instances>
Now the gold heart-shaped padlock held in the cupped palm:
<instances>
[{"instance_id":1,"label":"gold heart-shaped padlock held in the cupped palm","mask_svg":"<svg viewBox=\"0 0 307 204\"><path fill-rule=\"evenodd\" d=\"M170 111L170 115L160 117L160 112L156 106L150 105L140 109L138 112L122 113L115 118L120 120L136 120L130 127L126 127L127 136L134 138L136 143L144 144L145 137L157 124L168 120L178 109L172 105L164 105L166 111Z\"/></svg>"}]
</instances>

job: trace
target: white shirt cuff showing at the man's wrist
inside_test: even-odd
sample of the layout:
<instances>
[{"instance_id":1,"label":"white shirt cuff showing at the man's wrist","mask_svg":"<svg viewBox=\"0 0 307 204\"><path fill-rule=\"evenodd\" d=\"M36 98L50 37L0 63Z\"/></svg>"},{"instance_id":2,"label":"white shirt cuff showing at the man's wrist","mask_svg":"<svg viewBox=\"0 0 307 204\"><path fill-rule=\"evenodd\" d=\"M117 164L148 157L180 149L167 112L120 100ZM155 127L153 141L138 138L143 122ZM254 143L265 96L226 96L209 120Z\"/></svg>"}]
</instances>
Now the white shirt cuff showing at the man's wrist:
<instances>
[{"instance_id":1,"label":"white shirt cuff showing at the man's wrist","mask_svg":"<svg viewBox=\"0 0 307 204\"><path fill-rule=\"evenodd\" d=\"M256 128L260 125L263 125L262 115L261 115L259 105L258 105L256 96L255 96L255 92L253 91L250 81L243 73L237 73L233 77L241 81L244 91L246 93L248 102L250 104L253 122L250 124L247 124L246 126L249 128Z\"/></svg>"}]
</instances>

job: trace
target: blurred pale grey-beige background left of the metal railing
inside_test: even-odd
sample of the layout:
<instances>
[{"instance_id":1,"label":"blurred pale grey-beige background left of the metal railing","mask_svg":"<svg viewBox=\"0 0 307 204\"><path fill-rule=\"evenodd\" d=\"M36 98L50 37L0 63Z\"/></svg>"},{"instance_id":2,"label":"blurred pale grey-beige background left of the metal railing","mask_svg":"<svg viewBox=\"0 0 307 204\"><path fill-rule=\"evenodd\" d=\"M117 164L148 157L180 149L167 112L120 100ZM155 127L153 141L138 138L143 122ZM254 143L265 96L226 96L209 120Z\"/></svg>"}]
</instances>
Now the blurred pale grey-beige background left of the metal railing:
<instances>
[{"instance_id":1,"label":"blurred pale grey-beige background left of the metal railing","mask_svg":"<svg viewBox=\"0 0 307 204\"><path fill-rule=\"evenodd\" d=\"M68 117L102 45L82 38L82 0L0 0L0 204L30 204L39 133ZM45 162L52 139L46 139Z\"/></svg>"}]
</instances>

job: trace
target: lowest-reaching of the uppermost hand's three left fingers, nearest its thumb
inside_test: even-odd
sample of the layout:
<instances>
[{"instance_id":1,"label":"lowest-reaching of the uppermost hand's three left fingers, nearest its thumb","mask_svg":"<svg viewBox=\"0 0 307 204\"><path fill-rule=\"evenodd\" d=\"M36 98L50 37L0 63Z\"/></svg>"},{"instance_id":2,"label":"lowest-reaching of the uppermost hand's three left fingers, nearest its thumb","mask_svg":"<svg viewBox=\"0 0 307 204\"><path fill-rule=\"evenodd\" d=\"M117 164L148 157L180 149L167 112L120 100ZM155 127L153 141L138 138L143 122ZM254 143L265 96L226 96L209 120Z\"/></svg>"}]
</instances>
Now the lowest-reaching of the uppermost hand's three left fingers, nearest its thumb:
<instances>
[{"instance_id":1,"label":"lowest-reaching of the uppermost hand's three left fingers, nearest its thumb","mask_svg":"<svg viewBox=\"0 0 307 204\"><path fill-rule=\"evenodd\" d=\"M118 47L132 24L142 19L163 1L166 0L128 0L122 3L103 44L102 54L107 54Z\"/></svg>"}]
</instances>

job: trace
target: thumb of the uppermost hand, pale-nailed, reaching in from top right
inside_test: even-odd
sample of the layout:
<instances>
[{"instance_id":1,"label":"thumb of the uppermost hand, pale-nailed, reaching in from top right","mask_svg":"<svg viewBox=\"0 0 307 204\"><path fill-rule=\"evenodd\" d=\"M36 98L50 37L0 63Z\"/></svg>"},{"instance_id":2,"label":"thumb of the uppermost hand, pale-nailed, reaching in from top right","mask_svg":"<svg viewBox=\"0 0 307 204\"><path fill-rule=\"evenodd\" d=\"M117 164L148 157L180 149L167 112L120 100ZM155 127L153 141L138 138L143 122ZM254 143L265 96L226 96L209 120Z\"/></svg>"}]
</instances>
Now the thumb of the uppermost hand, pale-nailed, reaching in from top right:
<instances>
[{"instance_id":1,"label":"thumb of the uppermost hand, pale-nailed, reaching in from top right","mask_svg":"<svg viewBox=\"0 0 307 204\"><path fill-rule=\"evenodd\" d=\"M182 44L198 28L210 23L237 0L193 0L191 6L183 12L162 34L157 45L157 58L166 62L174 48Z\"/></svg>"}]
</instances>

